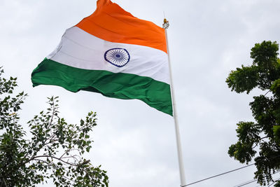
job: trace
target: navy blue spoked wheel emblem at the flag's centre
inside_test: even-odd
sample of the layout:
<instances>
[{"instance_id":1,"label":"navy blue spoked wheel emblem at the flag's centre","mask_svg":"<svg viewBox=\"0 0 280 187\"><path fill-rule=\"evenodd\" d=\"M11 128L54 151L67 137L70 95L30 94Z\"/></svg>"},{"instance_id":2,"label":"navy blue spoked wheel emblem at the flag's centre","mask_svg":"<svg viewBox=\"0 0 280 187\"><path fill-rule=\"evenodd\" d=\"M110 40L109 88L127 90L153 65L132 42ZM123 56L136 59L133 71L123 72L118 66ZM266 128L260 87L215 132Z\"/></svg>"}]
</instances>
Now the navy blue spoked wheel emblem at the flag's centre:
<instances>
[{"instance_id":1,"label":"navy blue spoked wheel emblem at the flag's centre","mask_svg":"<svg viewBox=\"0 0 280 187\"><path fill-rule=\"evenodd\" d=\"M116 67L123 67L130 62L130 53L124 48L113 48L106 51L104 58Z\"/></svg>"}]
</instances>

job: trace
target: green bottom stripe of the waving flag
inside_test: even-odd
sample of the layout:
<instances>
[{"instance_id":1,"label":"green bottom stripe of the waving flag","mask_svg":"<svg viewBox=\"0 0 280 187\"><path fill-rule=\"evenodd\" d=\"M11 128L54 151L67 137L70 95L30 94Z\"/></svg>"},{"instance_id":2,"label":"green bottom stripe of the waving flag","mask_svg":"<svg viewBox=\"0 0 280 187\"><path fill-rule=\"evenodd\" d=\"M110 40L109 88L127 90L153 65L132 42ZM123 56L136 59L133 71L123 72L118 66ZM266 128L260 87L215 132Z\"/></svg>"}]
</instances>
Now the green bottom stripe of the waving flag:
<instances>
[{"instance_id":1,"label":"green bottom stripe of the waving flag","mask_svg":"<svg viewBox=\"0 0 280 187\"><path fill-rule=\"evenodd\" d=\"M106 97L140 99L172 116L170 86L146 76L69 67L45 59L31 74L33 86L59 85L71 92L87 90Z\"/></svg>"}]
</instances>

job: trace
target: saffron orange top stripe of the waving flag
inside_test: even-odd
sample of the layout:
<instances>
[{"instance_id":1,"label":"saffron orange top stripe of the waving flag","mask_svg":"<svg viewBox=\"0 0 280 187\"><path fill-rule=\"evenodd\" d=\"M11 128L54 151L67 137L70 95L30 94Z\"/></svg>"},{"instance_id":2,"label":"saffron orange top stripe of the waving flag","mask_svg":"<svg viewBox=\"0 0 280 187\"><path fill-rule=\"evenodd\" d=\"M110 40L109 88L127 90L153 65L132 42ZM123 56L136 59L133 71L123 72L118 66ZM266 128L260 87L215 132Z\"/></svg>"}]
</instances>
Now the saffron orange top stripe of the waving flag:
<instances>
[{"instance_id":1,"label":"saffron orange top stripe of the waving flag","mask_svg":"<svg viewBox=\"0 0 280 187\"><path fill-rule=\"evenodd\" d=\"M111 1L97 2L97 9L76 27L100 39L156 48L167 53L165 29L135 18Z\"/></svg>"}]
</instances>

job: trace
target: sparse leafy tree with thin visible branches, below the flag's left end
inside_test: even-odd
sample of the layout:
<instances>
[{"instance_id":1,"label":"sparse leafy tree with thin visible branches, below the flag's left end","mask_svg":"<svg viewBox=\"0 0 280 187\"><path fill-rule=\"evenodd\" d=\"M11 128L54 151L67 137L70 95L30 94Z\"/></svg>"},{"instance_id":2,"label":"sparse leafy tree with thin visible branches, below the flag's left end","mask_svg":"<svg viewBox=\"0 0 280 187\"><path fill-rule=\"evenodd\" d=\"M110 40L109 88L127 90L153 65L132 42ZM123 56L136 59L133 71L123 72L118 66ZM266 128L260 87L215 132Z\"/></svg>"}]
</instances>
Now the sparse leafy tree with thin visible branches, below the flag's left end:
<instances>
[{"instance_id":1,"label":"sparse leafy tree with thin visible branches, below the flag's left end","mask_svg":"<svg viewBox=\"0 0 280 187\"><path fill-rule=\"evenodd\" d=\"M108 186L108 176L83 154L90 151L89 133L96 124L90 112L78 125L59 117L57 97L49 108L28 122L31 139L18 112L27 95L14 95L16 78L3 78L0 69L0 186L35 186L52 179L56 186Z\"/></svg>"}]
</instances>

